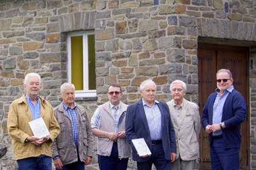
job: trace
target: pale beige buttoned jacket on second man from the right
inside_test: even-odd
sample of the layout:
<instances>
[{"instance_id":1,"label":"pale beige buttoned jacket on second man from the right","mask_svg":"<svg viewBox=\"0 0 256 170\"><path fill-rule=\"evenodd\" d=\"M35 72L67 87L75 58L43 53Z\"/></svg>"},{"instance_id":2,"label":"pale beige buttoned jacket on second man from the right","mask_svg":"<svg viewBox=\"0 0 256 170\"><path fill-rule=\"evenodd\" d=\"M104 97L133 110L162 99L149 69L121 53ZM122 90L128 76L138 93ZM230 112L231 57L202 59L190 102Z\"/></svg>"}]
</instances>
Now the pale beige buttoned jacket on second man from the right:
<instances>
[{"instance_id":1,"label":"pale beige buttoned jacket on second man from the right","mask_svg":"<svg viewBox=\"0 0 256 170\"><path fill-rule=\"evenodd\" d=\"M199 107L183 98L181 115L177 114L174 100L166 103L169 107L176 135L176 158L195 160L199 157L200 115Z\"/></svg>"}]
</instances>

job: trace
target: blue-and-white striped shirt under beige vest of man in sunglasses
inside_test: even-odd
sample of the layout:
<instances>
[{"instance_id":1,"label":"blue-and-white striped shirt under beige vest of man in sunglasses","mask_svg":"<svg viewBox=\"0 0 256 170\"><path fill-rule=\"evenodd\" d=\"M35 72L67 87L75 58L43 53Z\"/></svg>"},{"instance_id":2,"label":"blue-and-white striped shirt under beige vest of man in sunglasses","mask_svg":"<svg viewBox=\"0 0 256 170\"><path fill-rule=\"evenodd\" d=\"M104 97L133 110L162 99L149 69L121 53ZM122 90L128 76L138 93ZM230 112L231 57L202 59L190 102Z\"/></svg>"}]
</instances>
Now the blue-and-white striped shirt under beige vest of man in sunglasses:
<instances>
[{"instance_id":1,"label":"blue-and-white striped shirt under beige vest of man in sunglasses","mask_svg":"<svg viewBox=\"0 0 256 170\"><path fill-rule=\"evenodd\" d=\"M114 118L115 132L118 132L118 117L119 117L119 106L114 106L112 103L109 104L112 116ZM120 103L119 103L120 105ZM99 112L99 107L95 110L93 117L91 117L91 128L99 129L101 126L101 114Z\"/></svg>"}]
</instances>

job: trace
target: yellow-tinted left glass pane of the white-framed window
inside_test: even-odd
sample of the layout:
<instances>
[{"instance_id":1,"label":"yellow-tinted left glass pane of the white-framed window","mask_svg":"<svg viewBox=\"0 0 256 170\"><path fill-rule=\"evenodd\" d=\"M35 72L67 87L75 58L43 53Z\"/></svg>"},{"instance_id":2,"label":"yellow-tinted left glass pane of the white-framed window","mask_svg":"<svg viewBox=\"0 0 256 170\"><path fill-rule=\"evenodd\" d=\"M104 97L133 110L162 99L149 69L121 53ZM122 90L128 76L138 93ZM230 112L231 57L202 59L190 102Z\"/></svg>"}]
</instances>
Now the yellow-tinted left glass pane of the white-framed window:
<instances>
[{"instance_id":1,"label":"yellow-tinted left glass pane of the white-framed window","mask_svg":"<svg viewBox=\"0 0 256 170\"><path fill-rule=\"evenodd\" d=\"M71 36L71 82L84 90L83 81L83 36Z\"/></svg>"}]
</instances>

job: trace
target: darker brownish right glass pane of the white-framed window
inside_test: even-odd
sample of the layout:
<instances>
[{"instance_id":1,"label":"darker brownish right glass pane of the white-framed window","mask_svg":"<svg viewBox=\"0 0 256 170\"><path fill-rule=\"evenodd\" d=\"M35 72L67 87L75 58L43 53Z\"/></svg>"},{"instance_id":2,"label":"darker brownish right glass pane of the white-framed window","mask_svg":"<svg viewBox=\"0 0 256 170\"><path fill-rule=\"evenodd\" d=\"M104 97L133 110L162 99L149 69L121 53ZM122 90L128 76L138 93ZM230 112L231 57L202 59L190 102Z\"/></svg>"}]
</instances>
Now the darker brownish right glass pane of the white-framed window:
<instances>
[{"instance_id":1,"label":"darker brownish right glass pane of the white-framed window","mask_svg":"<svg viewBox=\"0 0 256 170\"><path fill-rule=\"evenodd\" d=\"M96 73L95 73L95 49L94 35L88 35L88 75L89 75L89 90L96 89Z\"/></svg>"}]
</instances>

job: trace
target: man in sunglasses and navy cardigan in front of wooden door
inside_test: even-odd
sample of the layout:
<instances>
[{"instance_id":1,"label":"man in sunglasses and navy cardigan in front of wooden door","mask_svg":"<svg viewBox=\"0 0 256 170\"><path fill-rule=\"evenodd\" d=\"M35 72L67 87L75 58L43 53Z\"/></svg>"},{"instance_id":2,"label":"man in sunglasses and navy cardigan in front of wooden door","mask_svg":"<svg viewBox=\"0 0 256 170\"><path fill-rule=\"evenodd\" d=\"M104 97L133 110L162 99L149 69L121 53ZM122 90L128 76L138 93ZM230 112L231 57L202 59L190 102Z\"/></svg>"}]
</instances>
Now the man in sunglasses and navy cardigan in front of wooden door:
<instances>
[{"instance_id":1,"label":"man in sunglasses and navy cardigan in front of wooden door","mask_svg":"<svg viewBox=\"0 0 256 170\"><path fill-rule=\"evenodd\" d=\"M246 102L234 89L230 70L218 70L216 82L217 89L205 102L201 119L209 134L211 166L213 170L238 170L240 126L246 118Z\"/></svg>"}]
</instances>

